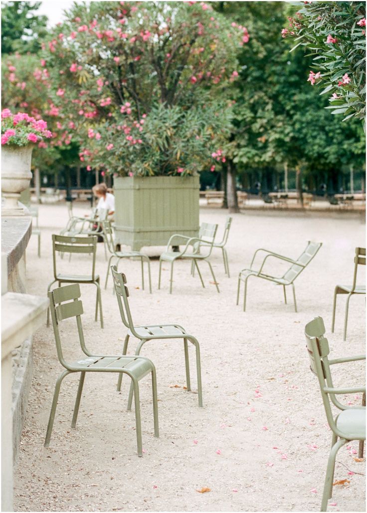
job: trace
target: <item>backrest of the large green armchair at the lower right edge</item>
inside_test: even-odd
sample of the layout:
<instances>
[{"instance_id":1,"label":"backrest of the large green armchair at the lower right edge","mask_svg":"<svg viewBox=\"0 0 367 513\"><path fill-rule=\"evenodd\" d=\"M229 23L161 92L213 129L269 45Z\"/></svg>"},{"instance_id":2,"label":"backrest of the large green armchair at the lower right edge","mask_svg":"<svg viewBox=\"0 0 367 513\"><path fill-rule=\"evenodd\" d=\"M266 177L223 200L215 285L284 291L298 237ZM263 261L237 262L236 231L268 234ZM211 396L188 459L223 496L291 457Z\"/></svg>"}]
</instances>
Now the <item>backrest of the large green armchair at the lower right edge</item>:
<instances>
[{"instance_id":1,"label":"backrest of the large green armchair at the lower right edge","mask_svg":"<svg viewBox=\"0 0 367 513\"><path fill-rule=\"evenodd\" d=\"M329 426L335 431L333 412L331 409L329 393L325 392L325 387L333 387L331 379L330 365L328 355L330 353L328 339L324 338L325 326L321 317L316 317L313 321L306 324L304 334L307 343L307 351L310 358L310 368L316 374L321 391L322 402L328 419ZM334 394L333 394L334 395ZM335 396L334 396L335 397Z\"/></svg>"}]
</instances>

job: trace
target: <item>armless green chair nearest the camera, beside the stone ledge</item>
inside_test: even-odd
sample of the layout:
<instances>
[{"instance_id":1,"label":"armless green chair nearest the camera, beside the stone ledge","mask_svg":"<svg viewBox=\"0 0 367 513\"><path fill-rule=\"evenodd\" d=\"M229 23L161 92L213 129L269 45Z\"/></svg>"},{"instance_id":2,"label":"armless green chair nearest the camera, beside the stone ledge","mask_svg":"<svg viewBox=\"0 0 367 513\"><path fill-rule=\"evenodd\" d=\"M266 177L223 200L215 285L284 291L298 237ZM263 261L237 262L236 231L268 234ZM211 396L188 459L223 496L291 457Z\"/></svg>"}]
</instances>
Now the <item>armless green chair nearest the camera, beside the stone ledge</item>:
<instances>
[{"instance_id":1,"label":"armless green chair nearest the camera, beside the stone ledge","mask_svg":"<svg viewBox=\"0 0 367 513\"><path fill-rule=\"evenodd\" d=\"M156 371L153 362L148 358L139 356L121 356L111 354L92 354L86 347L83 327L81 325L81 314L83 314L83 304L79 300L80 287L78 284L67 285L60 287L49 292L50 309L52 325L55 334L57 356L60 364L66 370L60 374L56 381L55 391L50 412L50 419L47 427L47 434L45 440L45 447L50 444L51 432L56 413L56 406L58 394L63 379L72 372L80 372L79 386L76 394L73 419L71 427L76 426L76 419L78 416L79 404L81 399L81 392L83 391L83 384L86 372L118 372L119 374L125 373L131 378L131 385L134 389L135 398L135 422L136 422L136 441L138 456L142 456L141 445L141 421L140 421L140 401L139 401L139 381L147 374L152 374L152 390L153 390L153 416L154 416L154 435L159 436L158 432L158 404L157 404L157 383ZM63 354L62 341L60 339L59 324L65 319L75 317L78 329L79 344L83 353L78 360L74 362L67 362Z\"/></svg>"}]
</instances>

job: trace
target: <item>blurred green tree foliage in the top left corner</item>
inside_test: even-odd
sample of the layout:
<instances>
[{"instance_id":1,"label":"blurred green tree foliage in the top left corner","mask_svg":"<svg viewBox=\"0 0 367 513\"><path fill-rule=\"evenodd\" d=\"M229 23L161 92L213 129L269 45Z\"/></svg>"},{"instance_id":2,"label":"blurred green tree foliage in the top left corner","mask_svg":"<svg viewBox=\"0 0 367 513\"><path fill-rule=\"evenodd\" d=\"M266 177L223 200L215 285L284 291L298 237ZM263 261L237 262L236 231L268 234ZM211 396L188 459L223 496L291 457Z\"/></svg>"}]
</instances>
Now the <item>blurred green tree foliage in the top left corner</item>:
<instances>
[{"instance_id":1,"label":"blurred green tree foliage in the top left corner","mask_svg":"<svg viewBox=\"0 0 367 513\"><path fill-rule=\"evenodd\" d=\"M47 34L47 16L37 15L40 2L4 2L2 5L2 53L37 53Z\"/></svg>"}]
</instances>

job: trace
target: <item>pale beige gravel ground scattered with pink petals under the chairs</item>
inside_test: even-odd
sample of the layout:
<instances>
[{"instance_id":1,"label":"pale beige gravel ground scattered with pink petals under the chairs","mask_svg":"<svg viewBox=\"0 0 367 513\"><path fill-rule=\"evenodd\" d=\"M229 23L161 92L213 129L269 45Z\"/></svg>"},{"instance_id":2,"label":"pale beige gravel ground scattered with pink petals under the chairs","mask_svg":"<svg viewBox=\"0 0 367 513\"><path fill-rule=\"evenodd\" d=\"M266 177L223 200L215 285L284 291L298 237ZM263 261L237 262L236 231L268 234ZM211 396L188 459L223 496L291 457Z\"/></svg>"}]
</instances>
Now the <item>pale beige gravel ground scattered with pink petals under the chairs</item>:
<instances>
[{"instance_id":1,"label":"pale beige gravel ground scattered with pink petals under the chairs","mask_svg":"<svg viewBox=\"0 0 367 513\"><path fill-rule=\"evenodd\" d=\"M76 213L85 213L79 204ZM202 208L200 221L219 224L227 211ZM42 258L37 239L27 250L28 291L43 295L52 280L51 233L67 221L65 205L41 205ZM139 263L120 263L128 278L136 324L178 323L200 343L204 408L197 404L195 355L190 350L192 392L184 387L180 341L152 341L141 351L157 369L160 437L153 436L149 378L140 382L144 455L136 455L134 412L126 411L127 380L121 393L116 376L87 376L76 429L70 427L77 376L62 385L48 449L46 435L53 388L62 367L53 332L46 326L34 337L34 378L19 462L15 471L16 511L318 511L331 432L316 378L310 372L303 329L321 315L332 357L365 352L364 299L350 304L347 341L342 340L344 298L330 332L333 290L352 280L356 246L364 246L363 220L353 214L246 212L233 215L228 241L231 278L224 274L220 251L211 257L220 293L209 267L201 264L206 288L190 276L190 264L175 264L173 294L169 266L157 290L158 260L152 259L153 294L141 290ZM254 251L266 247L296 258L308 240L323 246L296 280L298 313L285 305L282 289L249 280L246 313L236 306L237 275ZM107 262L98 245L97 272L104 281ZM152 257L161 248L146 248ZM83 272L89 261L73 256L69 264ZM273 264L274 265L274 264ZM274 270L269 263L268 270ZM360 276L364 280L364 274ZM291 301L289 290L289 300ZM95 289L81 287L87 345L96 352L120 352L126 333L112 283L103 290L105 329L94 322ZM75 326L62 324L67 357L77 357ZM133 353L132 340L129 352ZM334 369L333 369L334 370ZM335 384L364 383L363 364L335 369ZM125 383L125 386L124 386ZM344 398L360 404L360 394ZM357 442L338 453L332 511L365 511L365 460L356 461ZM198 490L209 488L200 493Z\"/></svg>"}]
</instances>

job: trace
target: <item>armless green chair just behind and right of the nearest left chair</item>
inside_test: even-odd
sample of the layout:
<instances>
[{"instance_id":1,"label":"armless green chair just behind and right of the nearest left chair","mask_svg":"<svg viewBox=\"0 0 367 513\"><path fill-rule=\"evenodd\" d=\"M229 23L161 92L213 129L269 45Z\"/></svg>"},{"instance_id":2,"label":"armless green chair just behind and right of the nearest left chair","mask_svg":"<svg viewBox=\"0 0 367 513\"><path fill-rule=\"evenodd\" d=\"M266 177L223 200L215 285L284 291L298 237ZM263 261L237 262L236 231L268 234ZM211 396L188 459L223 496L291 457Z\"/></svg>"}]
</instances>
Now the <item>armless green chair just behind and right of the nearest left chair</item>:
<instances>
[{"instance_id":1,"label":"armless green chair just behind and right of the nearest left chair","mask_svg":"<svg viewBox=\"0 0 367 513\"><path fill-rule=\"evenodd\" d=\"M121 320L128 328L128 333L125 337L123 354L127 353L128 343L130 337L135 337L139 340L136 347L135 354L140 354L141 347L149 340L158 339L184 339L184 352L185 352L185 367L186 367L186 385L187 390L191 390L190 383L190 364L189 364L189 350L188 341L195 346L196 351L196 376L197 376L197 392L199 406L202 407L202 391L201 391L201 366L200 366L200 347L196 338L189 334L182 326L178 324L157 324L154 326L135 326L131 317L129 306L129 293L126 287L126 276L123 273L117 272L116 266L111 266L114 286L116 290L116 297L118 308L120 310ZM120 374L117 383L117 390L121 389L121 380L123 375ZM131 407L133 388L130 387L128 409Z\"/></svg>"}]
</instances>

